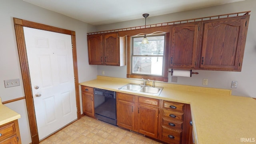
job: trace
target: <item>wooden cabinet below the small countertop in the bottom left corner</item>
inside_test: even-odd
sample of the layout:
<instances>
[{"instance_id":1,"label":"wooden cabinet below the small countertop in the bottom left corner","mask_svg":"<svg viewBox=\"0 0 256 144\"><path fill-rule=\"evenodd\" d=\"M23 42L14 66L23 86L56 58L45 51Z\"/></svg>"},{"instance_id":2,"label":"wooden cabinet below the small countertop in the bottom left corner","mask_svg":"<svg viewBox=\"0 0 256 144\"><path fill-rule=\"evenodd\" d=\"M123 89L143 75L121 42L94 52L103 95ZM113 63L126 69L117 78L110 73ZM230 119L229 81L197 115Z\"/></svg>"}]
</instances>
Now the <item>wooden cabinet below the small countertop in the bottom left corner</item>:
<instances>
[{"instance_id":1,"label":"wooden cabinet below the small countertop in the bottom left corner","mask_svg":"<svg viewBox=\"0 0 256 144\"><path fill-rule=\"evenodd\" d=\"M18 120L0 126L0 144L21 144Z\"/></svg>"}]
</instances>

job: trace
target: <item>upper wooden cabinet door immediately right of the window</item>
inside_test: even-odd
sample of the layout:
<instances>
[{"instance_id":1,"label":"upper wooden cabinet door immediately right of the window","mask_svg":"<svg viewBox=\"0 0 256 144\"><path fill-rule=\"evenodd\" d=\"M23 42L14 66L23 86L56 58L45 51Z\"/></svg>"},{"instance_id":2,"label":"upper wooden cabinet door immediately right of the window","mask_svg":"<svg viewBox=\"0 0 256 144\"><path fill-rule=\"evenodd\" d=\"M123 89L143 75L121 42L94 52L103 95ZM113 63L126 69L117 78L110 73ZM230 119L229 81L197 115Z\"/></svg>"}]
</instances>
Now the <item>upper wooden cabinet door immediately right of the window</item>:
<instances>
[{"instance_id":1,"label":"upper wooden cabinet door immediately right of the window","mask_svg":"<svg viewBox=\"0 0 256 144\"><path fill-rule=\"evenodd\" d=\"M169 68L194 69L199 23L172 26Z\"/></svg>"}]
</instances>

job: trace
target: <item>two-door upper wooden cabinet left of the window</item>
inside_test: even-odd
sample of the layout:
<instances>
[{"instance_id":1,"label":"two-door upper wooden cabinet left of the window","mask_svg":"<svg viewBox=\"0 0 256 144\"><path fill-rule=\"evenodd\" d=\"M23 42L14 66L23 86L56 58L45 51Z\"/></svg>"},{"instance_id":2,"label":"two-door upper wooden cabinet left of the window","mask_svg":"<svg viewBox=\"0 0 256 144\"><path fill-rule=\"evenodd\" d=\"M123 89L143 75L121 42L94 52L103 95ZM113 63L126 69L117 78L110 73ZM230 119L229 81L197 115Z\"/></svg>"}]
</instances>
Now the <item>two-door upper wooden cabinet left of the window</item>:
<instances>
[{"instance_id":1,"label":"two-door upper wooden cabinet left of the window","mask_svg":"<svg viewBox=\"0 0 256 144\"><path fill-rule=\"evenodd\" d=\"M117 32L87 36L89 64L124 66L126 65L125 37Z\"/></svg>"}]
</instances>

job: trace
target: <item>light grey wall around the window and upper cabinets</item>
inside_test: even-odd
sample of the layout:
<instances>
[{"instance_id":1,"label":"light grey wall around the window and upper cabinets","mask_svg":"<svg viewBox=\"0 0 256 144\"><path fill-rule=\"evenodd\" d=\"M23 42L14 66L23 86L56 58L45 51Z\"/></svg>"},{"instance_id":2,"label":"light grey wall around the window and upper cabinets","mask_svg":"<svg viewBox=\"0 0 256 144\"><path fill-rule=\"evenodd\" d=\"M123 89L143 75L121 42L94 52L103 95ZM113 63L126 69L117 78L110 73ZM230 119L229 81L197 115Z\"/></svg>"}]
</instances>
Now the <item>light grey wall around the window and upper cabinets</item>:
<instances>
[{"instance_id":1,"label":"light grey wall around the window and upper cabinets","mask_svg":"<svg viewBox=\"0 0 256 144\"><path fill-rule=\"evenodd\" d=\"M170 82L171 79L169 74L169 83L203 86L202 80L203 78L206 78L208 79L208 86L206 87L231 89L233 95L256 98L256 90L254 88L254 82L256 81L256 76L254 75L256 74L256 0L245 0L242 2L235 2L230 4L224 4L221 6L201 8L185 12L177 12L162 16L149 16L147 18L147 24L172 22L176 20L186 20L191 18L200 18L206 16L244 12L250 10L252 12L250 12L251 15L246 39L242 72L193 70L193 72L199 72L199 74L193 74L191 78L178 77L177 83ZM145 22L144 20L145 19L142 17L138 20L130 20L126 22L96 26L96 31L129 28L133 26L143 26ZM102 75L102 70L105 71L105 76L126 78L126 66L98 66L98 75ZM237 88L230 88L232 80L238 81Z\"/></svg>"}]
</instances>

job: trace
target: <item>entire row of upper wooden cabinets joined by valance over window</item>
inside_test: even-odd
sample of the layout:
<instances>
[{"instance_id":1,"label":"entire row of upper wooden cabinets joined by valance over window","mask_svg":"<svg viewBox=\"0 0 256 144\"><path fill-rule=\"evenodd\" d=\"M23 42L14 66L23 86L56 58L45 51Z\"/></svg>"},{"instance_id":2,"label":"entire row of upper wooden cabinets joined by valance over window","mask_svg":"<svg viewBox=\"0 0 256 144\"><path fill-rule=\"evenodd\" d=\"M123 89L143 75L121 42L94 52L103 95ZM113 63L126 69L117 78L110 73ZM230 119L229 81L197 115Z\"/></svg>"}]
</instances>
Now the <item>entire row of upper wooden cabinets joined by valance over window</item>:
<instances>
[{"instance_id":1,"label":"entire row of upper wooden cabinets joined by valance over window","mask_svg":"<svg viewBox=\"0 0 256 144\"><path fill-rule=\"evenodd\" d=\"M109 33L89 33L89 64L125 65L126 36L129 38L146 31L170 34L169 41L166 41L168 56L164 57L167 68L241 71L249 12L153 24L146 29L134 27L115 32L110 30ZM127 46L132 47L128 41ZM128 76L130 75L128 70Z\"/></svg>"}]
</instances>

